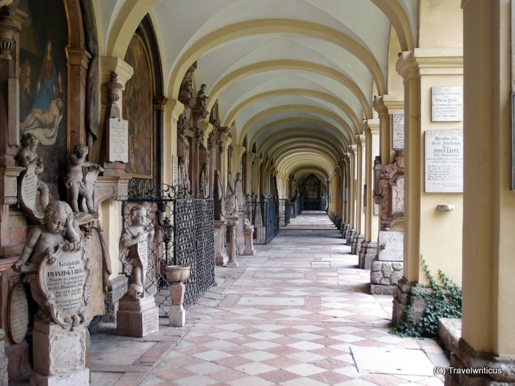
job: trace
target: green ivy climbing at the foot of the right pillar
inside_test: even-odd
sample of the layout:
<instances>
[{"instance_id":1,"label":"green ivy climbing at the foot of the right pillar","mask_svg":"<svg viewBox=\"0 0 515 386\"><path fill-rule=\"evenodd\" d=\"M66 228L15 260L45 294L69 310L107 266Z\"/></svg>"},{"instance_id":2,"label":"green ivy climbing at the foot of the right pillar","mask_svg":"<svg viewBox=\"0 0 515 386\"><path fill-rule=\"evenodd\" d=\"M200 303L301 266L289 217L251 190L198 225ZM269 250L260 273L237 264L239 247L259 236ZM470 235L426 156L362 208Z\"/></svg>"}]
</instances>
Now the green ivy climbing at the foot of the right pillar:
<instances>
[{"instance_id":1,"label":"green ivy climbing at the foot of the right pillar","mask_svg":"<svg viewBox=\"0 0 515 386\"><path fill-rule=\"evenodd\" d=\"M461 288L454 283L440 269L438 278L442 284L429 271L427 262L420 256L420 264L424 270L429 284L421 285L430 291L411 294L411 299L422 298L427 303L424 314L418 321L413 321L411 317L411 305L406 305L406 321L394 325L390 332L402 337L430 337L438 335L438 319L441 318L461 318Z\"/></svg>"}]
</instances>

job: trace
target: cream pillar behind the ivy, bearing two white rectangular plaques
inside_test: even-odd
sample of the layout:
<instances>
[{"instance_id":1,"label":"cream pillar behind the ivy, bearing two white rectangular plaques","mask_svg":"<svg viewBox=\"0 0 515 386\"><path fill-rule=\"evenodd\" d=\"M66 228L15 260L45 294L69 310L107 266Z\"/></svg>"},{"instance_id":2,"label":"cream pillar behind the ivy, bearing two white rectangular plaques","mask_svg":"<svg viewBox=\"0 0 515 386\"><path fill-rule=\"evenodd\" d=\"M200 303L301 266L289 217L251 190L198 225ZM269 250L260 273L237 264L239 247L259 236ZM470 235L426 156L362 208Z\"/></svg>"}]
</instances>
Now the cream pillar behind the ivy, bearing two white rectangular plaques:
<instances>
[{"instance_id":1,"label":"cream pillar behind the ivy, bearing two white rectangular plaques","mask_svg":"<svg viewBox=\"0 0 515 386\"><path fill-rule=\"evenodd\" d=\"M454 121L438 121L431 118L431 92L436 86L458 86L463 83L463 58L461 49L453 48L418 48L413 52L404 52L397 61L397 72L404 79L404 269L399 281L399 290L394 303L394 319L404 309L404 289L412 284L426 284L427 279L420 271L420 256L426 260L429 270L436 273L441 269L449 278L461 282L461 230L463 204L459 191L445 193L438 188L428 191L425 180L425 156L434 156L436 152L426 154L424 145L431 145L427 138L429 130L441 130L443 137L446 130L464 127L461 117ZM459 98L458 98L459 99ZM458 122L456 122L458 121ZM423 124L422 124L423 123ZM431 137L432 138L432 137ZM444 146L448 146L445 143ZM445 147L442 147L445 151ZM456 148L456 147L454 147ZM454 150L453 150L454 151ZM457 150L458 154L459 151ZM461 154L463 152L461 151ZM459 178L458 178L459 179ZM432 180L431 180L432 181ZM454 184L454 182L452 182ZM454 210L438 211L438 205L451 205ZM421 232L421 225L424 232ZM434 243L440 246L435 250ZM395 321L395 320L394 320Z\"/></svg>"}]
</instances>

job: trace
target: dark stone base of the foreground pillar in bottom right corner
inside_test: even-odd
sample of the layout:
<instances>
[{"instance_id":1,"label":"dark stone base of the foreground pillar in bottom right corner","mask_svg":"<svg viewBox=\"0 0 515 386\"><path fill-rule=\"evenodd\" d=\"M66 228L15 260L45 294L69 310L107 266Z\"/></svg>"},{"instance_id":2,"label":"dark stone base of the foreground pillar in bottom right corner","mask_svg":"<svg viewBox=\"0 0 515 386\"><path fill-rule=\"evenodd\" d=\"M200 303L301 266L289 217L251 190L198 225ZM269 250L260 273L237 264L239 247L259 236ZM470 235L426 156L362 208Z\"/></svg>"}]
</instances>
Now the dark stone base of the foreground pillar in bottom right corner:
<instances>
[{"instance_id":1,"label":"dark stone base of the foreground pillar in bottom right corner","mask_svg":"<svg viewBox=\"0 0 515 386\"><path fill-rule=\"evenodd\" d=\"M461 371L458 371L458 369ZM478 353L466 341L459 339L456 345L456 353L450 355L450 368L445 372L445 385L500 386L513 385L514 383L514 357Z\"/></svg>"}]
</instances>

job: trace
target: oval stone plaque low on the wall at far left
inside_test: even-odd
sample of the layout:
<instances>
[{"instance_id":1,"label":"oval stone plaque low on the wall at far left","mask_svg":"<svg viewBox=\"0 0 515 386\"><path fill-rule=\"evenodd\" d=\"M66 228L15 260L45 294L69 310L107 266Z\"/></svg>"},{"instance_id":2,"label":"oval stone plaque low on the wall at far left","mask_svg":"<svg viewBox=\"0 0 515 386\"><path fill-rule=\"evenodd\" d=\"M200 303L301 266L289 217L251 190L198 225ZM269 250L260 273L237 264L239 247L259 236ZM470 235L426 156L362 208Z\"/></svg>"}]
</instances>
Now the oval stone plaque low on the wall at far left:
<instances>
[{"instance_id":1,"label":"oval stone plaque low on the wall at far left","mask_svg":"<svg viewBox=\"0 0 515 386\"><path fill-rule=\"evenodd\" d=\"M8 323L10 339L21 343L29 330L29 303L22 283L15 284L9 292Z\"/></svg>"}]
</instances>

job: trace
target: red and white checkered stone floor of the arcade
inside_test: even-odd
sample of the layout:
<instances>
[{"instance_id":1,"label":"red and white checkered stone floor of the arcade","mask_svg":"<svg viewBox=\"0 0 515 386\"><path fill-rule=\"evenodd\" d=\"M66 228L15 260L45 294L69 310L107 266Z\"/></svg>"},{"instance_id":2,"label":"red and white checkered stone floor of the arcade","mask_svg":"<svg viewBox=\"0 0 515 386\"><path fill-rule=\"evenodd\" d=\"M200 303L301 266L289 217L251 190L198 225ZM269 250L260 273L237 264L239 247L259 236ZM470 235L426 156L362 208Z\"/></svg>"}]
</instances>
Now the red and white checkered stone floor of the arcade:
<instances>
[{"instance_id":1,"label":"red and white checkered stone floor of the arcade","mask_svg":"<svg viewBox=\"0 0 515 386\"><path fill-rule=\"evenodd\" d=\"M368 293L324 212L308 212L187 310L187 324L143 339L103 325L92 336L91 385L443 385L431 339L388 334L390 296Z\"/></svg>"}]
</instances>

